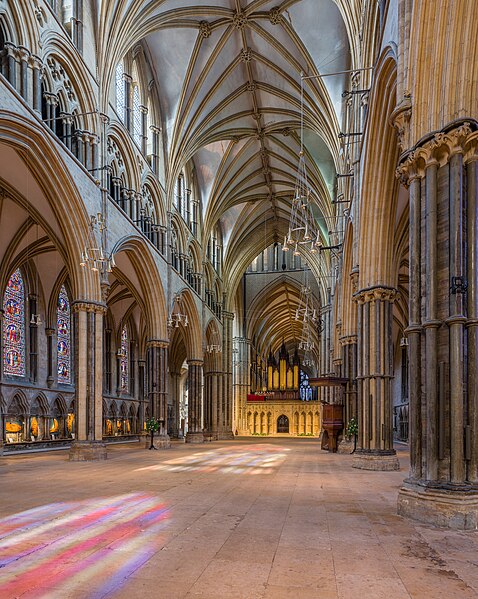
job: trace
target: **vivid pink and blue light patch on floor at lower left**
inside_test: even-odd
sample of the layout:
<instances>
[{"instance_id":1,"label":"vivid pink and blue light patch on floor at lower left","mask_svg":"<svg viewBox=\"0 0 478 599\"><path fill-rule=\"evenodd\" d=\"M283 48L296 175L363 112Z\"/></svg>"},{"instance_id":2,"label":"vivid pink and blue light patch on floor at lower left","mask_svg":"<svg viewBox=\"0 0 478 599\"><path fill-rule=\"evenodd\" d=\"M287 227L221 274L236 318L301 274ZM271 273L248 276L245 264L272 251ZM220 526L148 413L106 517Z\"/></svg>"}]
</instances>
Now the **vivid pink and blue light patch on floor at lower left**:
<instances>
[{"instance_id":1,"label":"vivid pink and blue light patch on floor at lower left","mask_svg":"<svg viewBox=\"0 0 478 599\"><path fill-rule=\"evenodd\" d=\"M167 520L165 506L143 493L2 518L0 597L104 597L160 549Z\"/></svg>"}]
</instances>

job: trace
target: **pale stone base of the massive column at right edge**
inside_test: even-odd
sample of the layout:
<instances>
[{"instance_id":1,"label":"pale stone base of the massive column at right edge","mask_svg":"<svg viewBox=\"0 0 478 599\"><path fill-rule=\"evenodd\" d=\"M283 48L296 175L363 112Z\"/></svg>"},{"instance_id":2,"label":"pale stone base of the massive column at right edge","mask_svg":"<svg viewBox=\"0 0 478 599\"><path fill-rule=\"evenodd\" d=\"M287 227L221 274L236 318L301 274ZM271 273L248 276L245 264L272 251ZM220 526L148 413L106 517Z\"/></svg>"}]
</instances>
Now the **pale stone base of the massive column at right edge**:
<instances>
[{"instance_id":1,"label":"pale stone base of the massive column at right edge","mask_svg":"<svg viewBox=\"0 0 478 599\"><path fill-rule=\"evenodd\" d=\"M398 492L398 514L453 530L478 529L478 490L434 489L404 482Z\"/></svg>"}]
</instances>

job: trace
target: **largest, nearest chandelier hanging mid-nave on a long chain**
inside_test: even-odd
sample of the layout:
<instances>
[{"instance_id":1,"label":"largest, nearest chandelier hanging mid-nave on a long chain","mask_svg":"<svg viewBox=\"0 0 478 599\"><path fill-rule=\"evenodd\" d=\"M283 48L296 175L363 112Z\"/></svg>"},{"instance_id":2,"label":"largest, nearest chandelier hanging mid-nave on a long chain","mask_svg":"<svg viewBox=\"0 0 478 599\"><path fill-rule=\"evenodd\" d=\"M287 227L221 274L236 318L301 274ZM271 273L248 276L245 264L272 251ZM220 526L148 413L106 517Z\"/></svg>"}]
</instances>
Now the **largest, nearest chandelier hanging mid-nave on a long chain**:
<instances>
[{"instance_id":1,"label":"largest, nearest chandelier hanging mid-nave on a long chain","mask_svg":"<svg viewBox=\"0 0 478 599\"><path fill-rule=\"evenodd\" d=\"M297 167L294 197L292 198L289 230L284 238L283 250L293 250L300 256L301 247L309 247L317 253L321 247L320 231L313 212L313 197L307 179L307 165L304 151L304 76L301 73L300 86L300 152Z\"/></svg>"}]
</instances>

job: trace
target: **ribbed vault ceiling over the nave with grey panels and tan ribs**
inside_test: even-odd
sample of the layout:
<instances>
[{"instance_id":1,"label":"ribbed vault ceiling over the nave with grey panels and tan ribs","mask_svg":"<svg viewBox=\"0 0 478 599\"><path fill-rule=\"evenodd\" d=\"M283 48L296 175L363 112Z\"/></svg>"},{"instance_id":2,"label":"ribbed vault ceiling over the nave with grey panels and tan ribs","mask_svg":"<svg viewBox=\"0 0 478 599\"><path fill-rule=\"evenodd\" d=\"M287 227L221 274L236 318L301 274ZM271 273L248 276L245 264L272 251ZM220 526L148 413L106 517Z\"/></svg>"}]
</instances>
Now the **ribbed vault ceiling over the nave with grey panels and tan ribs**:
<instances>
[{"instance_id":1,"label":"ribbed vault ceiling over the nave with grey panels and tan ribs","mask_svg":"<svg viewBox=\"0 0 478 599\"><path fill-rule=\"evenodd\" d=\"M300 150L301 73L327 75L355 63L356 8L353 0L122 4L129 43L143 44L155 73L168 195L192 160L205 234L218 221L223 230L230 297L247 265L287 230ZM304 85L308 177L325 243L337 229L331 200L348 81L334 75Z\"/></svg>"}]
</instances>

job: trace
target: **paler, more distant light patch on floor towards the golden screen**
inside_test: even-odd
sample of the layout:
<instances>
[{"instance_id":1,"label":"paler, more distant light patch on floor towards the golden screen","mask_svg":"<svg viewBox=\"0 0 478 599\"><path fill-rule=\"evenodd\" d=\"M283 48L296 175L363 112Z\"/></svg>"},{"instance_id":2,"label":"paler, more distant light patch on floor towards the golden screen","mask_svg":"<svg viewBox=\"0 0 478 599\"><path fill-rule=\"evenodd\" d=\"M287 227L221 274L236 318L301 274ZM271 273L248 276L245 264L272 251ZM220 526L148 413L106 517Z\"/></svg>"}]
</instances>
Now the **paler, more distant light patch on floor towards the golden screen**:
<instances>
[{"instance_id":1,"label":"paler, more distant light patch on floor towards the golden screen","mask_svg":"<svg viewBox=\"0 0 478 599\"><path fill-rule=\"evenodd\" d=\"M272 474L284 461L285 447L276 445L248 445L231 450L221 448L201 451L166 460L161 464L138 468L141 470L167 470L169 472L224 472L231 474Z\"/></svg>"}]
</instances>

